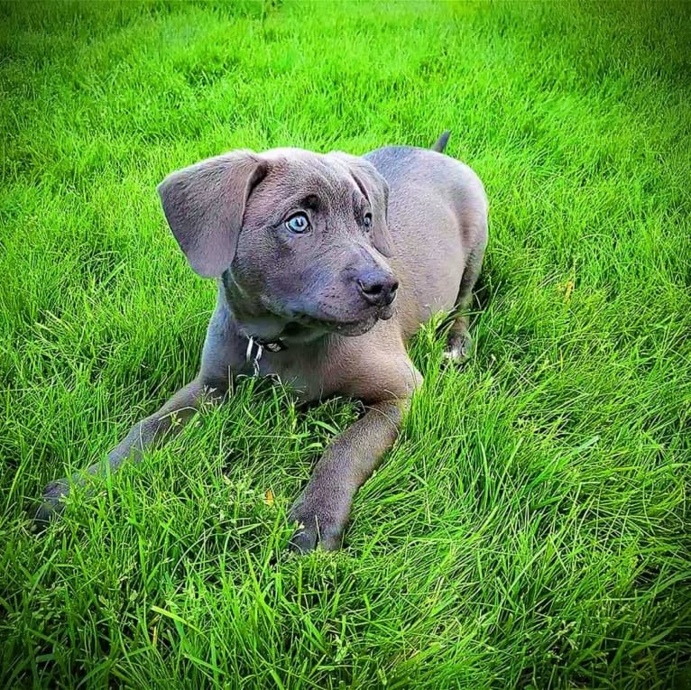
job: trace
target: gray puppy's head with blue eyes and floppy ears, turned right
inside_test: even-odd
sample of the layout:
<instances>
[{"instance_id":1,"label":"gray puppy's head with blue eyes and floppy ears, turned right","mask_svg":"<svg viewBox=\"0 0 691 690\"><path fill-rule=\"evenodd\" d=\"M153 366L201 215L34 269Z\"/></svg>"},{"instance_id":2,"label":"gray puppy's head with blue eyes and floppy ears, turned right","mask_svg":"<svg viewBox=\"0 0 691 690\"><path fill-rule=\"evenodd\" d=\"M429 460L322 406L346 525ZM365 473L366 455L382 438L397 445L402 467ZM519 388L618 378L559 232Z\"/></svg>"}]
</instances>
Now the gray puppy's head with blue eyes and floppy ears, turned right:
<instances>
[{"instance_id":1,"label":"gray puppy's head with blue eyes and floppy ears, turned right","mask_svg":"<svg viewBox=\"0 0 691 690\"><path fill-rule=\"evenodd\" d=\"M170 174L163 211L192 268L243 318L360 335L392 316L388 185L345 153L236 151Z\"/></svg>"}]
</instances>

